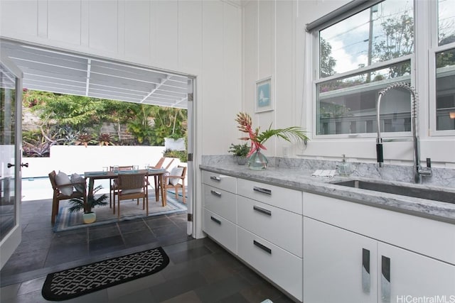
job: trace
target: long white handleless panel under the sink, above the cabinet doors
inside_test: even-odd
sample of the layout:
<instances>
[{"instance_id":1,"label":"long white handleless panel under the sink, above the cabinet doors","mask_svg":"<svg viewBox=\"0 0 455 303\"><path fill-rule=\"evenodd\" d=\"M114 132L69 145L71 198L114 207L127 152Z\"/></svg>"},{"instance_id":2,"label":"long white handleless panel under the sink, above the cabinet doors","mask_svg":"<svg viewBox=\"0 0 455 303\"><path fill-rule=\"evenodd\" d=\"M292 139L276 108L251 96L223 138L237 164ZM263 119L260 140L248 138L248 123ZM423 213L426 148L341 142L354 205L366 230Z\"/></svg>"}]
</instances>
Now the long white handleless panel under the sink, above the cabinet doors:
<instances>
[{"instance_id":1,"label":"long white handleless panel under the sink, above the cabinet doors","mask_svg":"<svg viewBox=\"0 0 455 303\"><path fill-rule=\"evenodd\" d=\"M304 216L455 264L454 224L308 192Z\"/></svg>"}]
</instances>

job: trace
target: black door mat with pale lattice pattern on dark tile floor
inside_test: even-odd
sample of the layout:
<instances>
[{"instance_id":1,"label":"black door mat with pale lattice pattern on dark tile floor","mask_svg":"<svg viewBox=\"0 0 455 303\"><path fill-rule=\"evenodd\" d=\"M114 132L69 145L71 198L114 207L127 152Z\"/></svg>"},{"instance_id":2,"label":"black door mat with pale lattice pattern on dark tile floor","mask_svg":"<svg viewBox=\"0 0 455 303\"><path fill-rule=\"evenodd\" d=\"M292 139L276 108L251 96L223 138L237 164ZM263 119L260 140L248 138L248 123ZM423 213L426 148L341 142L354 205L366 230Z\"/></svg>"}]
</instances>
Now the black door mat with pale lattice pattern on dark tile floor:
<instances>
[{"instance_id":1,"label":"black door mat with pale lattice pattern on dark tile floor","mask_svg":"<svg viewBox=\"0 0 455 303\"><path fill-rule=\"evenodd\" d=\"M53 272L45 278L41 294L50 301L73 299L154 274L166 268L168 263L168 255L159 247Z\"/></svg>"}]
</instances>

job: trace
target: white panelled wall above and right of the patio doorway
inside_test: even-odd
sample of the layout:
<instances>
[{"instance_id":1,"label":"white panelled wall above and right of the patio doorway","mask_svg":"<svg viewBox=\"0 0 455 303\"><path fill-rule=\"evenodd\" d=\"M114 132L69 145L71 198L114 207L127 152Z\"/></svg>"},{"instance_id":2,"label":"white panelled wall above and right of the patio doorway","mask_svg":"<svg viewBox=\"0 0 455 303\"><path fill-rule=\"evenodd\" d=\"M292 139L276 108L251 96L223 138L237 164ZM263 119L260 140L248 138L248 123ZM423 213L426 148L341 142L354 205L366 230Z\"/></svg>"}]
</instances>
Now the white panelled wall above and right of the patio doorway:
<instances>
[{"instance_id":1,"label":"white panelled wall above and right of the patio doorway","mask_svg":"<svg viewBox=\"0 0 455 303\"><path fill-rule=\"evenodd\" d=\"M241 12L218 0L2 0L0 36L195 75L196 156L223 154L242 99Z\"/></svg>"}]
</instances>

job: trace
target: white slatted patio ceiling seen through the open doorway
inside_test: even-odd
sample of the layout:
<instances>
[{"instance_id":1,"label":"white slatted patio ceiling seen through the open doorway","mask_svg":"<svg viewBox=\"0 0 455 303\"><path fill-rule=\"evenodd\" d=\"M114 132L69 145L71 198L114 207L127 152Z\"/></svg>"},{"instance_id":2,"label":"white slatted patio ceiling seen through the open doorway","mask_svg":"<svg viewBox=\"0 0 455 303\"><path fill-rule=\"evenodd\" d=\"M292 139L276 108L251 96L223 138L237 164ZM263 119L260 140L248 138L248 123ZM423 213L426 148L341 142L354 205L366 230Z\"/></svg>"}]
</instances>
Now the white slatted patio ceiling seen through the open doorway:
<instances>
[{"instance_id":1,"label":"white slatted patio ceiling seen through the open doorway","mask_svg":"<svg viewBox=\"0 0 455 303\"><path fill-rule=\"evenodd\" d=\"M45 92L188 108L188 77L84 55L1 41L23 87Z\"/></svg>"}]
</instances>

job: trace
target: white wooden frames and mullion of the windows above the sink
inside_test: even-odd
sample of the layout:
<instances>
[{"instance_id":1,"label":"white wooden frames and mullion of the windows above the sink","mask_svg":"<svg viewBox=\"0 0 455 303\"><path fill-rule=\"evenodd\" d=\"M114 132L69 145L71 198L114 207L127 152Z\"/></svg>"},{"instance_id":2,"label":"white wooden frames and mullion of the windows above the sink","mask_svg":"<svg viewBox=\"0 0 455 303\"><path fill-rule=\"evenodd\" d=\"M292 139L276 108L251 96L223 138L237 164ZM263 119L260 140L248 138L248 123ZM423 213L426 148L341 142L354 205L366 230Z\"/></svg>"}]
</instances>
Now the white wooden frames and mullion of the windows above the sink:
<instances>
[{"instance_id":1,"label":"white wooden frames and mullion of the windows above the sink","mask_svg":"<svg viewBox=\"0 0 455 303\"><path fill-rule=\"evenodd\" d=\"M339 9L341 13L338 16L333 17L331 21L326 21L326 23L321 23L314 21L317 26L310 27L307 26L307 35L306 40L311 41L311 53L310 57L307 57L307 60L311 62L311 117L308 115L307 121L311 121L311 125L308 125L311 128L314 139L346 139L346 138L375 138L376 133L341 133L341 134L326 134L318 135L317 134L317 123L319 119L316 116L318 100L316 99L317 85L321 82L331 81L333 79L340 79L350 75L356 75L361 72L368 72L370 70L378 70L380 67L391 65L394 63L405 62L410 60L411 65L411 80L410 83L412 87L415 87L417 91L417 96L419 96L418 106L418 126L419 131L422 136L425 137L441 137L441 136L455 136L455 130L443 130L437 131L437 104L436 104L436 54L444 51L451 50L455 48L455 43L449 43L446 45L438 45L438 1L413 1L414 4L414 52L411 55L405 55L403 57L395 58L387 62L378 62L373 63L370 66L361 67L357 70L351 70L349 72L343 72L337 75L321 78L319 76L319 31L324 28L328 28L338 23L341 20L353 16L359 11L368 9L370 6L378 4L382 1L359 1L358 6L350 6L350 9ZM336 10L338 11L338 10ZM336 13L333 11L328 15ZM338 12L339 12L338 11ZM328 16L327 15L327 16ZM326 20L328 20L326 18ZM311 26L310 23L309 25ZM428 74L424 72L428 70ZM405 132L385 132L383 135L386 138L410 138L412 137L412 131Z\"/></svg>"}]
</instances>

